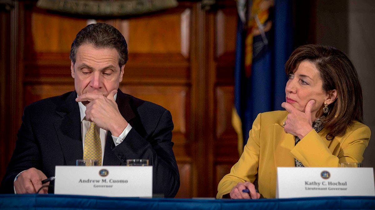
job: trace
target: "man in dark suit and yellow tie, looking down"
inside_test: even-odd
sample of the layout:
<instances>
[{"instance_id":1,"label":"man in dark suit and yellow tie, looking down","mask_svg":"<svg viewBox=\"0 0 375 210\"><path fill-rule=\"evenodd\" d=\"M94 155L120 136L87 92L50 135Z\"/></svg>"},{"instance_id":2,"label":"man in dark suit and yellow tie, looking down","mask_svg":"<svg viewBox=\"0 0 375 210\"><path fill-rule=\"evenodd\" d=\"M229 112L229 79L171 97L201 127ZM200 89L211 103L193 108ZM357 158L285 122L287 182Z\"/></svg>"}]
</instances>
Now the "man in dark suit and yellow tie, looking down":
<instances>
[{"instance_id":1,"label":"man in dark suit and yellow tie, looking down","mask_svg":"<svg viewBox=\"0 0 375 210\"><path fill-rule=\"evenodd\" d=\"M118 89L127 61L123 35L111 25L90 24L77 34L70 58L75 91L25 108L1 192L36 193L41 180L54 176L55 166L89 157L85 145L91 144L87 134L92 128L100 164L148 159L153 193L174 197L180 177L172 151L172 117L165 108Z\"/></svg>"}]
</instances>

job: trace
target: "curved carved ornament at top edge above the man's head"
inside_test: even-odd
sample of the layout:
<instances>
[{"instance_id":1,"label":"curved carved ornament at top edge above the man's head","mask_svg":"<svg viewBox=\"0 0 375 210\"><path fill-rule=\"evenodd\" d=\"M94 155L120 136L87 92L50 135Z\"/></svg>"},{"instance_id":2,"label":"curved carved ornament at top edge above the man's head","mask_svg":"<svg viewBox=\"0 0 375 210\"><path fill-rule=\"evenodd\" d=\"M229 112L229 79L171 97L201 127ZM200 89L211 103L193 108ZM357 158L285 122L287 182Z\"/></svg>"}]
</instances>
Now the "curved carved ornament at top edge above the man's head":
<instances>
[{"instance_id":1,"label":"curved carved ornament at top edge above the man's head","mask_svg":"<svg viewBox=\"0 0 375 210\"><path fill-rule=\"evenodd\" d=\"M37 7L56 12L92 16L131 16L169 9L177 0L38 0Z\"/></svg>"}]
</instances>

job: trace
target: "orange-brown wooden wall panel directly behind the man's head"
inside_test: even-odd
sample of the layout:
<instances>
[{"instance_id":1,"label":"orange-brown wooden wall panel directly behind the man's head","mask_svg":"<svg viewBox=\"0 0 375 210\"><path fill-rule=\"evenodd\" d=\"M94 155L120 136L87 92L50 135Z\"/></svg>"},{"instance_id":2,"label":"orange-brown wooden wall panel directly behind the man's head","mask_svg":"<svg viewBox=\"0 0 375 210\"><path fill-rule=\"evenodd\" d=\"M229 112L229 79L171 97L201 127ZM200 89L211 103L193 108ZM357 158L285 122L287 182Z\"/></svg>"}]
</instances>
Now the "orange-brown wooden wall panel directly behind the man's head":
<instances>
[{"instance_id":1,"label":"orange-brown wooden wall panel directly behind the man's head","mask_svg":"<svg viewBox=\"0 0 375 210\"><path fill-rule=\"evenodd\" d=\"M27 11L26 81L70 77L69 51L87 19ZM125 79L131 83L189 83L190 9L128 20L98 20L114 25L127 39L129 61ZM74 24L73 24L74 23ZM145 30L147 28L147 30ZM51 32L49 32L51 31ZM153 43L151 45L151 43ZM132 47L133 46L133 47ZM51 71L51 68L53 70ZM67 71L68 70L68 71Z\"/></svg>"}]
</instances>

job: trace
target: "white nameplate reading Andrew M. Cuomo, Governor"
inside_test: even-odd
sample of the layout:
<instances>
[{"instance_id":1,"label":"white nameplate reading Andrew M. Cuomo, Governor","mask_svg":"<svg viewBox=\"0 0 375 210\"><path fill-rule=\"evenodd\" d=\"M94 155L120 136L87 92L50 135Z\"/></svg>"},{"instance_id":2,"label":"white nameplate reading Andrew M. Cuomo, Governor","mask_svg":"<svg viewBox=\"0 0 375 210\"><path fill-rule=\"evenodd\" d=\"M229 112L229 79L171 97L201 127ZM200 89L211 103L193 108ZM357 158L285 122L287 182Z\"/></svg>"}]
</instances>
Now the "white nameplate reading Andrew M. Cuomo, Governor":
<instances>
[{"instance_id":1,"label":"white nameplate reading Andrew M. Cuomo, Governor","mask_svg":"<svg viewBox=\"0 0 375 210\"><path fill-rule=\"evenodd\" d=\"M152 166L56 166L55 194L152 197Z\"/></svg>"}]
</instances>

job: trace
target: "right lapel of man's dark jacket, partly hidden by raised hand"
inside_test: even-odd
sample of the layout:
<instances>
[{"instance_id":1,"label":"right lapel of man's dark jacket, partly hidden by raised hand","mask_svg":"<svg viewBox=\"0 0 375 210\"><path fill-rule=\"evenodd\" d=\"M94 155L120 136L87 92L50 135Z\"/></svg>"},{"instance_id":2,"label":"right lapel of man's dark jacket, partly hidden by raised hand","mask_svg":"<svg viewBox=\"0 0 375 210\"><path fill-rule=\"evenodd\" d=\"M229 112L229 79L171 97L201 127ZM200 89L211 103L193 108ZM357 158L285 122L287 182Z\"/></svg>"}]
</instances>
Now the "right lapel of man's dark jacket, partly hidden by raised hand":
<instances>
[{"instance_id":1,"label":"right lapel of man's dark jacket, partly hidden by raised hand","mask_svg":"<svg viewBox=\"0 0 375 210\"><path fill-rule=\"evenodd\" d=\"M127 95L121 92L120 89L117 90L116 103L118 106L118 111L120 111L121 115L124 117L127 123L129 123L132 127L135 127L135 124L133 123L135 114L130 106ZM112 133L108 131L107 139L105 142L103 165L116 166L122 164L122 162L117 158L117 154L114 153L114 148L115 144L113 142Z\"/></svg>"}]
</instances>

